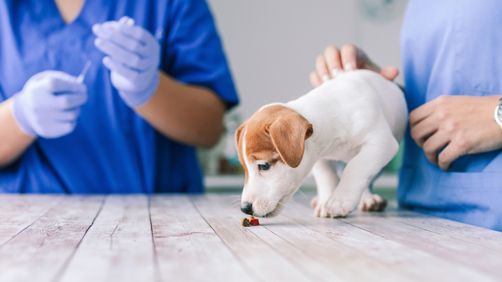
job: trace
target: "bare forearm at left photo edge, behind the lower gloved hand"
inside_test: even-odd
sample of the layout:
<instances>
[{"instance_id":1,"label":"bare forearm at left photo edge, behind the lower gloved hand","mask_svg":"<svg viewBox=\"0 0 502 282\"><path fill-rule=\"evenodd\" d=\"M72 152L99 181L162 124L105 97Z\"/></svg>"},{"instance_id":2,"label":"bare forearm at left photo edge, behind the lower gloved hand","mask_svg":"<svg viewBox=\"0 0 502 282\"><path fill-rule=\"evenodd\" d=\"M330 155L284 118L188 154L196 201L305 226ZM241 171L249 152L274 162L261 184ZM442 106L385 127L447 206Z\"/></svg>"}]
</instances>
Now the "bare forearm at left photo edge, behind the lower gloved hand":
<instances>
[{"instance_id":1,"label":"bare forearm at left photo edge, behind the lower gloved hand","mask_svg":"<svg viewBox=\"0 0 502 282\"><path fill-rule=\"evenodd\" d=\"M18 159L35 140L21 131L11 112L11 100L0 103L0 167Z\"/></svg>"}]
</instances>

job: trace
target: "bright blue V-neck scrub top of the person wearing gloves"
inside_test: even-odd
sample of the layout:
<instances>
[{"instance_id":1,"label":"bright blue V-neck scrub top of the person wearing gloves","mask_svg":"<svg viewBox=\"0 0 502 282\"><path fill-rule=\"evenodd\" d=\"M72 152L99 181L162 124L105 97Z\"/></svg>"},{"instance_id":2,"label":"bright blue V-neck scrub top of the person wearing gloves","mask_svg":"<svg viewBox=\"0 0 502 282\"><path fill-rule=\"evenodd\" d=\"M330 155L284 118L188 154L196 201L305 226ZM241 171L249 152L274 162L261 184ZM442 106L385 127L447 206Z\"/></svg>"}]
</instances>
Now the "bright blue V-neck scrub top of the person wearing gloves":
<instances>
[{"instance_id":1,"label":"bright blue V-neck scrub top of the person wearing gloves","mask_svg":"<svg viewBox=\"0 0 502 282\"><path fill-rule=\"evenodd\" d=\"M91 27L129 16L161 45L160 68L184 83L212 89L230 107L237 95L213 19L203 0L86 0L66 25L53 0L0 0L0 102L44 70L78 76L89 101L75 131L39 138L0 170L1 192L201 192L193 147L159 134L118 96L101 63Z\"/></svg>"}]
</instances>

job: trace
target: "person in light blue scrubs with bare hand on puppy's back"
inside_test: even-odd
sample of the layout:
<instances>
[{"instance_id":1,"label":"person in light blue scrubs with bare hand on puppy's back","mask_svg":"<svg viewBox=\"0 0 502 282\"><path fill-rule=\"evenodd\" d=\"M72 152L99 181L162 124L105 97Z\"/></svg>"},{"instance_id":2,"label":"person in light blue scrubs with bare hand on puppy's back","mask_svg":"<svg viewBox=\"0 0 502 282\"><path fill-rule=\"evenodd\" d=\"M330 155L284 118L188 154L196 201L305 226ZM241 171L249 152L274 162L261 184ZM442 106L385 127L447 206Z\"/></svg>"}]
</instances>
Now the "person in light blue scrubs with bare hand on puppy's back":
<instances>
[{"instance_id":1,"label":"person in light blue scrubs with bare hand on puppy's back","mask_svg":"<svg viewBox=\"0 0 502 282\"><path fill-rule=\"evenodd\" d=\"M401 207L502 231L502 2L410 0L401 56L410 125L399 173ZM345 69L394 80L352 45L328 47L314 87Z\"/></svg>"}]
</instances>

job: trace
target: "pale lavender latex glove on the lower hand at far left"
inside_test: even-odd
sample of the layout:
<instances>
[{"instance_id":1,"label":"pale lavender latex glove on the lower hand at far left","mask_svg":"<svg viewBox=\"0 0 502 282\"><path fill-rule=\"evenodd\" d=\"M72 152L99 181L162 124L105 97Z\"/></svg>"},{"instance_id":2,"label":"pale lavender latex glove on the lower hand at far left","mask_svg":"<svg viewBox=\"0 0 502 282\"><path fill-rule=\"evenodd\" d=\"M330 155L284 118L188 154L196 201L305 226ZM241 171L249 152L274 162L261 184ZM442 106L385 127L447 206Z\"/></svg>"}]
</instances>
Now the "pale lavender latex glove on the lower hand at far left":
<instances>
[{"instance_id":1,"label":"pale lavender latex glove on the lower hand at far left","mask_svg":"<svg viewBox=\"0 0 502 282\"><path fill-rule=\"evenodd\" d=\"M87 87L67 73L44 71L32 76L12 99L12 115L25 134L58 138L75 129L80 106L87 102Z\"/></svg>"}]
</instances>

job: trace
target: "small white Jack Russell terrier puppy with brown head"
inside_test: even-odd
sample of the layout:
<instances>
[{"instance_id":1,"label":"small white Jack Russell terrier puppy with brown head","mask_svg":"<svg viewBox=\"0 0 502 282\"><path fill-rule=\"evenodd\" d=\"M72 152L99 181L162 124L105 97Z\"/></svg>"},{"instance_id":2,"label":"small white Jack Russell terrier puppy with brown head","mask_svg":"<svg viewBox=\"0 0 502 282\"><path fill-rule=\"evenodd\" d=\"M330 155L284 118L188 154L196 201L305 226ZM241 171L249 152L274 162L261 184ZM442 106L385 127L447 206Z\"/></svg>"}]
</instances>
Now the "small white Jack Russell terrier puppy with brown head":
<instances>
[{"instance_id":1,"label":"small white Jack Russell terrier puppy with brown head","mask_svg":"<svg viewBox=\"0 0 502 282\"><path fill-rule=\"evenodd\" d=\"M380 74L339 74L289 103L263 106L235 132L245 184L241 210L277 215L312 171L314 215L383 204L368 185L399 150L408 122L403 92ZM329 160L347 165L341 179Z\"/></svg>"}]
</instances>

